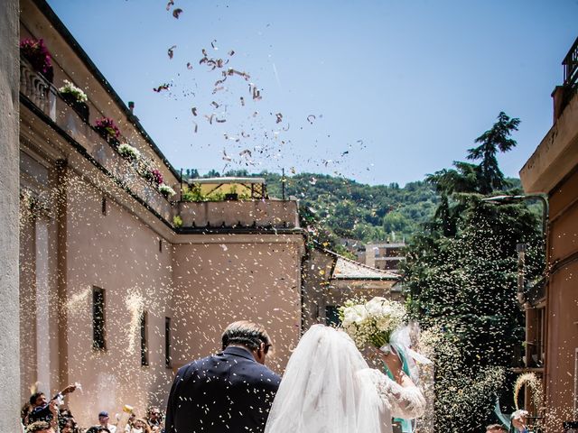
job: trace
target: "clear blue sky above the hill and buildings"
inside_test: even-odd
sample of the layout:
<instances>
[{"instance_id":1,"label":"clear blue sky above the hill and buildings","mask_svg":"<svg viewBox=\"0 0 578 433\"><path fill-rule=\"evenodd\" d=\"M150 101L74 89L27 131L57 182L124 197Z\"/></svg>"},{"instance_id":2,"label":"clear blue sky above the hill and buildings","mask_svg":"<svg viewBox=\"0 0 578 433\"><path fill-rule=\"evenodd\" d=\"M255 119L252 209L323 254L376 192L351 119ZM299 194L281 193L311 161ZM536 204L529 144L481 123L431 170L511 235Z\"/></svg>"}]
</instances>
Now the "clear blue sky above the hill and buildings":
<instances>
[{"instance_id":1,"label":"clear blue sky above the hill and buildings","mask_svg":"<svg viewBox=\"0 0 578 433\"><path fill-rule=\"evenodd\" d=\"M175 168L370 184L463 160L500 111L522 121L499 160L517 176L551 127L578 34L576 0L175 0L169 12L161 0L48 1ZM200 65L202 49L250 78L213 93L225 69Z\"/></svg>"}]
</instances>

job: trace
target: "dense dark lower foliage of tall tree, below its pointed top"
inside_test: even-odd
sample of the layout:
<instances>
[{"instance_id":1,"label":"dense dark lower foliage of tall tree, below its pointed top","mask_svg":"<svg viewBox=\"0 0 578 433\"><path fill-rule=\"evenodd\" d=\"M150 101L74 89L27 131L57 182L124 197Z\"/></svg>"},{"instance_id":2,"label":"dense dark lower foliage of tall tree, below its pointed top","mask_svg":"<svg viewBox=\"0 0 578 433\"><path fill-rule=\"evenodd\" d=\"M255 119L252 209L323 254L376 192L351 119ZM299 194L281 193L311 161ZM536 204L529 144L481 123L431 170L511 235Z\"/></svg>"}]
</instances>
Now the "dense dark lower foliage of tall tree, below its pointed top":
<instances>
[{"instance_id":1,"label":"dense dark lower foliage of tall tree, below its pointed top","mask_svg":"<svg viewBox=\"0 0 578 433\"><path fill-rule=\"evenodd\" d=\"M480 372L496 377L506 372L520 353L524 315L517 305L517 243L531 246L527 277L541 270L539 225L527 207L494 207L473 195L464 201L456 235L431 230L415 236L403 265L412 316L425 329L443 329L443 340L459 353L438 350L435 356L439 431L480 431L493 420L493 392L467 390L481 387ZM500 383L494 385L499 391Z\"/></svg>"}]
</instances>

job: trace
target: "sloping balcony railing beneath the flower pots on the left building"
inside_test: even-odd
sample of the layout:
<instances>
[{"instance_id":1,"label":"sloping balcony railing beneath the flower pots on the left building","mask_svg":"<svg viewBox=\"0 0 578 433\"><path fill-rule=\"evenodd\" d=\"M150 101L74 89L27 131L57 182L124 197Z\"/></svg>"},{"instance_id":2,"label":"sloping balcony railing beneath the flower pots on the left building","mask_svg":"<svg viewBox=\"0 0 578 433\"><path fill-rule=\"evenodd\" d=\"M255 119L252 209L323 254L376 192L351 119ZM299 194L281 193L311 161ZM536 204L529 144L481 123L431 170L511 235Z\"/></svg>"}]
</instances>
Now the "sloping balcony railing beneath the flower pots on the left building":
<instances>
[{"instance_id":1,"label":"sloping balcony railing beneath the flower pots on the left building","mask_svg":"<svg viewBox=\"0 0 578 433\"><path fill-rule=\"evenodd\" d=\"M136 172L133 163L126 161L100 137L93 127L60 97L58 89L34 71L23 58L20 61L20 92L78 143L82 153L96 161L99 168L117 185L128 189L166 221L172 221L172 206L167 199Z\"/></svg>"}]
</instances>

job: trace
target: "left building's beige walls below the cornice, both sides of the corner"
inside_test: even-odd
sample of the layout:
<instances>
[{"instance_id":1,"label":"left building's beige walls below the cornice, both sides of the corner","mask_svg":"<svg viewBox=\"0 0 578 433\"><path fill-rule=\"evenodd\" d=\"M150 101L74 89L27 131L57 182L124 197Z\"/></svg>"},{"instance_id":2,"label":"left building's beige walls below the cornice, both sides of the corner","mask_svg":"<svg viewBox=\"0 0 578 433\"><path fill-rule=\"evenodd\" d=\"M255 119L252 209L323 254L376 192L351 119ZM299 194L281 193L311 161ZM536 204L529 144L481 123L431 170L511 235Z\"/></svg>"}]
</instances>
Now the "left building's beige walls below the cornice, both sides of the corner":
<instances>
[{"instance_id":1,"label":"left building's beige walls below the cornice, both sides of the corner","mask_svg":"<svg viewBox=\"0 0 578 433\"><path fill-rule=\"evenodd\" d=\"M275 344L268 364L283 372L301 331L301 235L174 235L169 242L116 202L118 190L98 189L73 167L61 178L52 167L52 188L42 189L31 179L42 179L50 161L25 161L26 187L49 197L51 210L36 217L22 212L23 394L37 381L51 394L81 383L69 404L84 426L96 422L99 410L163 406L173 374L165 367L166 317L172 319L173 368L218 351L223 328L247 318L266 326ZM64 188L56 188L58 179ZM93 286L106 290L106 351L92 348ZM148 366L140 358L141 309L148 313Z\"/></svg>"}]
</instances>

